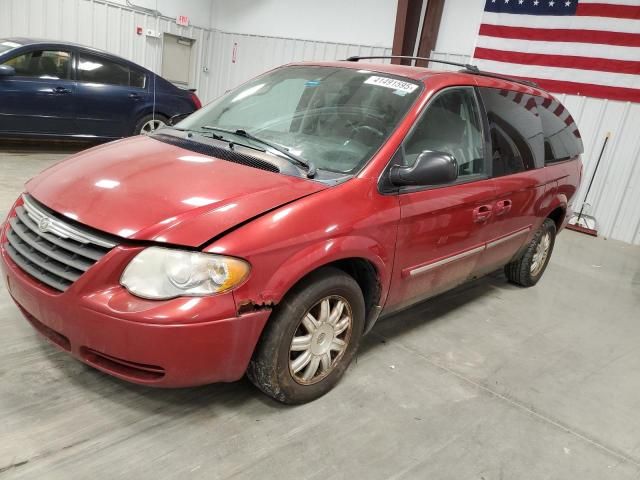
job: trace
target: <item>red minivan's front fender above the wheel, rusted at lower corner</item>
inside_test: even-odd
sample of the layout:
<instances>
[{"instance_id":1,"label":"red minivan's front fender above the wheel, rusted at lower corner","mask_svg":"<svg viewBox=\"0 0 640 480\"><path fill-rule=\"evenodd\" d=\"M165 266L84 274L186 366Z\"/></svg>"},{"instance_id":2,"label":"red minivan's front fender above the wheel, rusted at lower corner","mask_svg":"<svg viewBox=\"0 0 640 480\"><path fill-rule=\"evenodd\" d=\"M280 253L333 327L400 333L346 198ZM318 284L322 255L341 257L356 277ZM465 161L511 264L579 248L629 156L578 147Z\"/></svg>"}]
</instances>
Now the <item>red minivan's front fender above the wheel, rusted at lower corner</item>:
<instances>
[{"instance_id":1,"label":"red minivan's front fender above the wheel, rusted at lower corner","mask_svg":"<svg viewBox=\"0 0 640 480\"><path fill-rule=\"evenodd\" d=\"M204 250L251 264L246 283L234 291L238 306L277 304L310 272L348 258L375 267L382 304L399 217L398 199L380 195L376 179L352 179L240 225Z\"/></svg>"}]
</instances>

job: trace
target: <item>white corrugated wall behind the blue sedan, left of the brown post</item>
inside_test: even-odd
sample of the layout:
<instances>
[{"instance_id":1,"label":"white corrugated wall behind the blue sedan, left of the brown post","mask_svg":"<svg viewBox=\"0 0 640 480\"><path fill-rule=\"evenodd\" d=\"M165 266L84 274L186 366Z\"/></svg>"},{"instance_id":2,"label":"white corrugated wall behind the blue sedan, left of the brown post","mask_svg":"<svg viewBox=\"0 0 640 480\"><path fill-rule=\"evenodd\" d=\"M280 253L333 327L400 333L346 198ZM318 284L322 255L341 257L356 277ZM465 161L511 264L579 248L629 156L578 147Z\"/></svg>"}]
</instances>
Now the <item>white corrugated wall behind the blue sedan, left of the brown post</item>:
<instances>
[{"instance_id":1,"label":"white corrugated wall behind the blue sedan, left of the brown post","mask_svg":"<svg viewBox=\"0 0 640 480\"><path fill-rule=\"evenodd\" d=\"M153 0L147 3L155 8ZM161 7L159 2L158 8L162 11ZM192 18L195 24L202 20L206 22L208 18ZM136 26L196 39L196 61L191 75L195 80L191 86L198 90L205 103L252 76L284 63L391 52L388 48L362 44L235 34L206 26L179 27L173 17L155 17L105 0L0 0L0 37L30 36L77 42L159 72L162 40L136 35Z\"/></svg>"}]
</instances>

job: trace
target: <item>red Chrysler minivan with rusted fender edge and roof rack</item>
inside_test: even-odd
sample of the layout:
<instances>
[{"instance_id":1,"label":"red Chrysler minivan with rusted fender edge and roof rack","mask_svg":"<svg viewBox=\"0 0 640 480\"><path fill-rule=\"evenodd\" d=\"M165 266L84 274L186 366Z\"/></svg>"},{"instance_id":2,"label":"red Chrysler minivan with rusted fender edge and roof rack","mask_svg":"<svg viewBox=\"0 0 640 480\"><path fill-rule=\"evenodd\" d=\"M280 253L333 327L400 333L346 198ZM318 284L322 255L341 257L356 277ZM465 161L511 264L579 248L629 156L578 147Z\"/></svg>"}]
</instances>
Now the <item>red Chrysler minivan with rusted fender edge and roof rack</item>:
<instances>
[{"instance_id":1,"label":"red Chrysler minivan with rusted fender edge and roof rack","mask_svg":"<svg viewBox=\"0 0 640 480\"><path fill-rule=\"evenodd\" d=\"M128 381L247 373L301 403L381 316L501 267L534 285L580 182L569 113L471 66L358 60L277 68L27 182L1 238L27 320Z\"/></svg>"}]
</instances>

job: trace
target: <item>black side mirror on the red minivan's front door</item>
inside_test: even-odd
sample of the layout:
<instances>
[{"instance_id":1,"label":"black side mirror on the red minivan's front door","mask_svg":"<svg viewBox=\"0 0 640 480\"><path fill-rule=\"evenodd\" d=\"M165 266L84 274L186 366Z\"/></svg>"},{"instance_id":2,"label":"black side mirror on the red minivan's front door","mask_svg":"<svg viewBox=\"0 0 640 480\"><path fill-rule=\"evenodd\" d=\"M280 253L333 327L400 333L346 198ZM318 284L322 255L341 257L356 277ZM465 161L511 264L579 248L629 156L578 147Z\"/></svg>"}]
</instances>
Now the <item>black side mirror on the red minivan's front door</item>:
<instances>
[{"instance_id":1,"label":"black side mirror on the red minivan's front door","mask_svg":"<svg viewBox=\"0 0 640 480\"><path fill-rule=\"evenodd\" d=\"M458 178L458 162L445 152L425 150L410 167L394 165L389 172L391 183L408 185L442 185Z\"/></svg>"}]
</instances>

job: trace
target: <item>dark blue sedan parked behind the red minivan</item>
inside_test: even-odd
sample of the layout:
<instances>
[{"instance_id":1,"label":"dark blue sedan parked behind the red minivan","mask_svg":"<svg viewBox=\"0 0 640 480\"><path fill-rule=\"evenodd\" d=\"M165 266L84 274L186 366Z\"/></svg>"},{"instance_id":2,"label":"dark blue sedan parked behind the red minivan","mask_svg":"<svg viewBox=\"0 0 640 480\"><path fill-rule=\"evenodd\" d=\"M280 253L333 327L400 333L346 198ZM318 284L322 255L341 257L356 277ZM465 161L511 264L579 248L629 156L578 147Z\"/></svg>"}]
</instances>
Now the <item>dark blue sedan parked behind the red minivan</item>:
<instances>
[{"instance_id":1,"label":"dark blue sedan parked behind the red minivan","mask_svg":"<svg viewBox=\"0 0 640 480\"><path fill-rule=\"evenodd\" d=\"M200 106L193 91L124 58L72 43L0 39L1 137L127 137Z\"/></svg>"}]
</instances>

